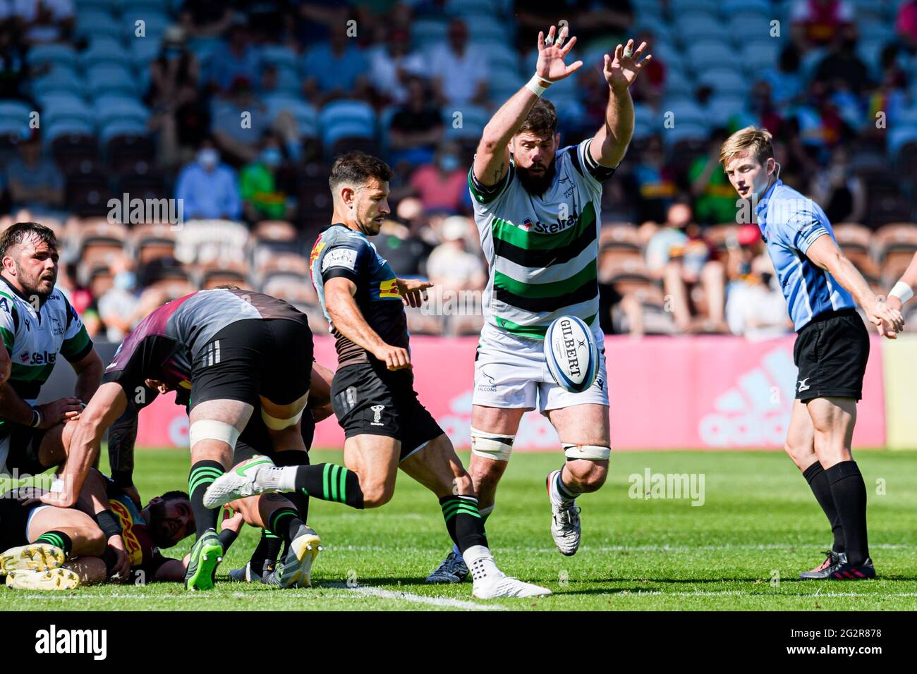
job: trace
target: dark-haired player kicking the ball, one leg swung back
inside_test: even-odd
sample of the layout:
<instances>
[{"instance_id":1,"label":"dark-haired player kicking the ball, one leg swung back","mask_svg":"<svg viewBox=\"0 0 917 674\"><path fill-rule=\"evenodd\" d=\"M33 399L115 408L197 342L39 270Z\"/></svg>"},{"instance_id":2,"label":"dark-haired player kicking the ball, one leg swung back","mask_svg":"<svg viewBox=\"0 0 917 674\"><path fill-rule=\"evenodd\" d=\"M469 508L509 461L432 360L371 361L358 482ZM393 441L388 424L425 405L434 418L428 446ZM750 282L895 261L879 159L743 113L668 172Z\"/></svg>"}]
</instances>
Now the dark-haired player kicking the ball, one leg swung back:
<instances>
[{"instance_id":1,"label":"dark-haired player kicking the ball, one leg swung back","mask_svg":"<svg viewBox=\"0 0 917 674\"><path fill-rule=\"evenodd\" d=\"M352 152L335 160L329 180L331 227L312 250L312 279L337 339L332 405L344 428L344 463L275 468L252 461L208 487L216 507L261 492L306 492L354 508L392 499L398 469L436 494L447 531L469 559L474 596L533 596L545 588L497 569L468 473L436 420L417 400L404 304L420 306L429 283L403 281L370 244L389 214L392 171L381 160Z\"/></svg>"}]
</instances>

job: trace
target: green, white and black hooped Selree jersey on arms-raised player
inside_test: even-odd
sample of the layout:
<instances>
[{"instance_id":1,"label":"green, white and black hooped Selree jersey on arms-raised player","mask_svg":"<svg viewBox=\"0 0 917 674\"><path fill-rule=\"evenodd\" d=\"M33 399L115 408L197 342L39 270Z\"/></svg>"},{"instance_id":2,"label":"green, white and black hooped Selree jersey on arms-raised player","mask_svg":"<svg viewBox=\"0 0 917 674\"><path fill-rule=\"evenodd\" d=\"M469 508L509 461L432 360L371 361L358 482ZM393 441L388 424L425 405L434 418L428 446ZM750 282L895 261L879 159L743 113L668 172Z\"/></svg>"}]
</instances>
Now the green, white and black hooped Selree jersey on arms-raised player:
<instances>
[{"instance_id":1,"label":"green, white and black hooped Selree jersey on arms-raised player","mask_svg":"<svg viewBox=\"0 0 917 674\"><path fill-rule=\"evenodd\" d=\"M602 182L614 169L589 154L592 139L559 149L554 182L540 196L510 161L503 181L481 185L469 171L474 219L490 269L484 320L519 337L543 339L561 315L592 325L599 313Z\"/></svg>"}]
</instances>

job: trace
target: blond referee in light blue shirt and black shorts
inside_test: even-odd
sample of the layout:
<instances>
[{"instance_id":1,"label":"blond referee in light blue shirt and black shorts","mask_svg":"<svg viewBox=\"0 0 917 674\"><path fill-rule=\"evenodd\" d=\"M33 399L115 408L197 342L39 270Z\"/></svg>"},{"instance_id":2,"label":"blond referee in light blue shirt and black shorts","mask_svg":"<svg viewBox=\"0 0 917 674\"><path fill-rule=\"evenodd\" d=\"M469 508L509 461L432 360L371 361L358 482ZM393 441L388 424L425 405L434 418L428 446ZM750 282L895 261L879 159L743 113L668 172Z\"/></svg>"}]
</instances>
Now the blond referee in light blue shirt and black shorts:
<instances>
[{"instance_id":1,"label":"blond referee in light blue shirt and black shorts","mask_svg":"<svg viewBox=\"0 0 917 674\"><path fill-rule=\"evenodd\" d=\"M799 374L786 450L834 533L824 562L800 578L875 578L866 484L851 449L869 356L869 336L856 304L887 337L894 337L904 321L838 249L821 206L779 180L767 130L736 131L724 142L720 162L735 191L755 209L797 333L793 359Z\"/></svg>"}]
</instances>

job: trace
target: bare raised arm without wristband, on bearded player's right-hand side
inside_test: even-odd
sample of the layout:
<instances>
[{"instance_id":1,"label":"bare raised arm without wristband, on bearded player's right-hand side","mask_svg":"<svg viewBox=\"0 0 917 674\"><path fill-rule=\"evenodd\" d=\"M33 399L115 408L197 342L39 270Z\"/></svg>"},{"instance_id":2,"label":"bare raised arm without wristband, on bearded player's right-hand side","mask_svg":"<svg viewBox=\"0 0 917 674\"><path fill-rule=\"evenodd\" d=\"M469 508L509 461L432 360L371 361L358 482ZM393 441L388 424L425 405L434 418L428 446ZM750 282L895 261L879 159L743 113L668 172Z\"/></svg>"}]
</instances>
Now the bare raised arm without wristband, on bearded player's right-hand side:
<instances>
[{"instance_id":1,"label":"bare raised arm without wristband, on bearded player's right-hand side","mask_svg":"<svg viewBox=\"0 0 917 674\"><path fill-rule=\"evenodd\" d=\"M627 45L614 48L614 57L605 54L603 74L608 83L608 105L605 107L605 123L602 125L589 146L593 160L605 167L613 168L624 159L624 152L634 135L634 101L630 96L630 85L636 80L637 73L646 61L653 58L646 54L646 42L641 42L634 51L634 40L627 40Z\"/></svg>"}]
</instances>

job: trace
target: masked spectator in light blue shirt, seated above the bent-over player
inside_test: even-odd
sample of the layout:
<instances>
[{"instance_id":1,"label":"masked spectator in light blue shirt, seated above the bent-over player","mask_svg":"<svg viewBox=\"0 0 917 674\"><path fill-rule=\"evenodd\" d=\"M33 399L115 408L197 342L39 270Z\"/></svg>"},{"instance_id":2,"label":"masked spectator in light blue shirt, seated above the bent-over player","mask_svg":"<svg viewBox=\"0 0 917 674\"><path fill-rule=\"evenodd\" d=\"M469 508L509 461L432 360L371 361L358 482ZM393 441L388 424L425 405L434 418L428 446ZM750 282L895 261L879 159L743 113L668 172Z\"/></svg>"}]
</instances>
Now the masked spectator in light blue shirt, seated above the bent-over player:
<instances>
[{"instance_id":1,"label":"masked spectator in light blue shirt, seated above the bent-over player","mask_svg":"<svg viewBox=\"0 0 917 674\"><path fill-rule=\"evenodd\" d=\"M210 138L204 138L197 158L179 173L175 196L182 200L184 216L189 220L238 220L242 212L236 173L220 162L220 153Z\"/></svg>"}]
</instances>

